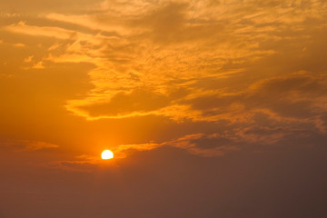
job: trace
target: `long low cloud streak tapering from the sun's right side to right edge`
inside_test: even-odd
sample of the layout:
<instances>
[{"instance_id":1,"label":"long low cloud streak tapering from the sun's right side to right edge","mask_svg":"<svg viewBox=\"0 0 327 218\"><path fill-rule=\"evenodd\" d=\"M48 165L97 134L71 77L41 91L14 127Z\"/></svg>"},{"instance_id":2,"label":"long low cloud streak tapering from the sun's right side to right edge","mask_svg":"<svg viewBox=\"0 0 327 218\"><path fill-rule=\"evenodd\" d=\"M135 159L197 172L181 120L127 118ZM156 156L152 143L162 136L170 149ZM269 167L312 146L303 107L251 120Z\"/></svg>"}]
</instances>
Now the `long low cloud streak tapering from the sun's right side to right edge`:
<instances>
[{"instance_id":1,"label":"long low cloud streak tapering from the sun's right side to right edge","mask_svg":"<svg viewBox=\"0 0 327 218\"><path fill-rule=\"evenodd\" d=\"M235 153L267 152L285 146L292 148L321 146L325 138L323 133L301 126L247 125L248 127L227 126L223 131L211 134L186 134L163 143L122 144L117 146L114 154L115 158L125 158L135 152L170 146L197 156L217 157Z\"/></svg>"}]
</instances>

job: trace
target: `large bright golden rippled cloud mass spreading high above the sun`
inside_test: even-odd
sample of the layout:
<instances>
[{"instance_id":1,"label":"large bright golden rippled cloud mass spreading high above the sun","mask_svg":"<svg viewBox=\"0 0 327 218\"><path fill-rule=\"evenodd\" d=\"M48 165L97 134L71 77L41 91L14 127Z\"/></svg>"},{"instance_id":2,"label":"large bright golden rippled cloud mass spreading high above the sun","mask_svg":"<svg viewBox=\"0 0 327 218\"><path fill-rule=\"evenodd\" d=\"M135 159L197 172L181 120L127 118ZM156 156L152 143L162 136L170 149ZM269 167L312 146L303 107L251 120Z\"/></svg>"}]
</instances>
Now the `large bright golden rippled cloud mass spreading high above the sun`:
<instances>
[{"instance_id":1,"label":"large bright golden rippled cloud mass spreading high above the sun","mask_svg":"<svg viewBox=\"0 0 327 218\"><path fill-rule=\"evenodd\" d=\"M140 5L144 5L144 9L133 10ZM96 88L90 90L84 100L67 102L66 108L75 114L87 119L171 115L170 108L185 107L167 97L172 85L183 85L177 78L197 84L203 79L228 78L233 76L227 73L230 70L240 72L248 64L258 63L258 59L279 54L279 46L295 40L292 35L301 35L306 20L315 17L317 26L321 26L325 6L309 2L303 7L296 1L265 4L258 1L176 1L169 4L138 1L131 5L104 1L101 6L94 5L90 9L96 11L96 15L51 13L41 17L47 25L19 22L3 28L16 34L70 40L51 46L49 54L35 67L44 66L44 61L88 62L97 66L90 73ZM241 10L243 8L249 10ZM314 11L316 15L300 13L306 11ZM109 17L119 22L114 25ZM124 36L108 36L103 32L85 34L80 28L72 30L76 26L69 24L113 33L125 29L128 33ZM291 29L294 25L298 28ZM132 74L134 79L131 79ZM189 91L200 97L202 90L207 88L189 87ZM140 89L151 90L152 94L148 92L144 96L149 98L149 103L144 104L142 97L137 95ZM120 96L126 105L113 107ZM140 99L126 108L132 98ZM158 101L158 106L151 107L152 101Z\"/></svg>"}]
</instances>

